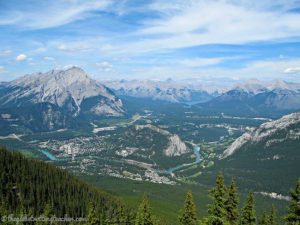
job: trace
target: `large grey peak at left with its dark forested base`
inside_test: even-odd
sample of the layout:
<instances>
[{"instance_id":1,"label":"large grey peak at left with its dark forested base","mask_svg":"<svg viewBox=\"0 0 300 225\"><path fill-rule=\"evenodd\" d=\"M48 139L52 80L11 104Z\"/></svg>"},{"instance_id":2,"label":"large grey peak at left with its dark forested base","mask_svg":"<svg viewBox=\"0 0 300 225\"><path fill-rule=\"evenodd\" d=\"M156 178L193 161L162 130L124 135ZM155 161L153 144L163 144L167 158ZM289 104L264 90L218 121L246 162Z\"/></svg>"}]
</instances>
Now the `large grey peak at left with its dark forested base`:
<instances>
[{"instance_id":1,"label":"large grey peak at left with its dark forested base","mask_svg":"<svg viewBox=\"0 0 300 225\"><path fill-rule=\"evenodd\" d=\"M0 113L1 124L15 120L35 131L49 131L66 128L79 116L120 116L124 109L110 89L71 67L5 83L0 87Z\"/></svg>"}]
</instances>

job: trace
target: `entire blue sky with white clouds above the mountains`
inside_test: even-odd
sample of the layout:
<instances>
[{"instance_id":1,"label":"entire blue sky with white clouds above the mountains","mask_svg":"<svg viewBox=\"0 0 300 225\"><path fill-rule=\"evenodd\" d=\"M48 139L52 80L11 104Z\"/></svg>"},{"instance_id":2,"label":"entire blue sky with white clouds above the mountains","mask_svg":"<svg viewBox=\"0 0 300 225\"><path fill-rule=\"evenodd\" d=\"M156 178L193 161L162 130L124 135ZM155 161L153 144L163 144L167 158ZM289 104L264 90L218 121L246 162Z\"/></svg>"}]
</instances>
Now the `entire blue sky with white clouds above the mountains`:
<instances>
[{"instance_id":1,"label":"entire blue sky with white clouds above the mountains","mask_svg":"<svg viewBox=\"0 0 300 225\"><path fill-rule=\"evenodd\" d=\"M0 81L300 77L299 0L0 0Z\"/></svg>"}]
</instances>

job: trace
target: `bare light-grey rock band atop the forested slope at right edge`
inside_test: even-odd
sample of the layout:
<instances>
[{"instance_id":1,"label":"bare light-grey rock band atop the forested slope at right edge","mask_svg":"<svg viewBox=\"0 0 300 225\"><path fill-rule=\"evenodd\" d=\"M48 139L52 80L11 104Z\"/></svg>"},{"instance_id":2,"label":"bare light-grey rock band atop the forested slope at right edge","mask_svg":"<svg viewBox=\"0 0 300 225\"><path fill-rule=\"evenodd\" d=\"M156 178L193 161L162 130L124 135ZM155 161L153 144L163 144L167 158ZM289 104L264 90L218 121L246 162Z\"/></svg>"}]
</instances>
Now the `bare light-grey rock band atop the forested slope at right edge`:
<instances>
[{"instance_id":1,"label":"bare light-grey rock band atop the forested slope at right edge","mask_svg":"<svg viewBox=\"0 0 300 225\"><path fill-rule=\"evenodd\" d=\"M266 142L267 146L270 146L274 143L282 142L287 139L299 139L300 140L300 131L294 125L300 123L300 112L292 113L282 118L263 123L257 129L254 129L250 132L244 133L241 137L237 138L231 146L229 146L223 153L222 158L226 158L232 155L234 152L238 151L247 143L258 143L262 140L268 140ZM284 138L272 138L272 136L281 131L285 131L286 135Z\"/></svg>"}]
</instances>

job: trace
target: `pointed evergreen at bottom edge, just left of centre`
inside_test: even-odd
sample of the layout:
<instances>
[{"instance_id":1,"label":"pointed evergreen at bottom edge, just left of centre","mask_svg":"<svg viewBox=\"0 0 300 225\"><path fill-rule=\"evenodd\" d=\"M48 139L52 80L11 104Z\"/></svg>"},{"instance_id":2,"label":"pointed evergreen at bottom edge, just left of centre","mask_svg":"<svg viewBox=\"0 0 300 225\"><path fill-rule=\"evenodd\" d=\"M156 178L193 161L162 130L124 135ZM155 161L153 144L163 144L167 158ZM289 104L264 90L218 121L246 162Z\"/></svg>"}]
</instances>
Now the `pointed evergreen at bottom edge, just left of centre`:
<instances>
[{"instance_id":1,"label":"pointed evergreen at bottom edge, just left of centre","mask_svg":"<svg viewBox=\"0 0 300 225\"><path fill-rule=\"evenodd\" d=\"M150 203L147 196L144 196L143 201L139 205L135 225L157 225L158 221L151 213Z\"/></svg>"}]
</instances>

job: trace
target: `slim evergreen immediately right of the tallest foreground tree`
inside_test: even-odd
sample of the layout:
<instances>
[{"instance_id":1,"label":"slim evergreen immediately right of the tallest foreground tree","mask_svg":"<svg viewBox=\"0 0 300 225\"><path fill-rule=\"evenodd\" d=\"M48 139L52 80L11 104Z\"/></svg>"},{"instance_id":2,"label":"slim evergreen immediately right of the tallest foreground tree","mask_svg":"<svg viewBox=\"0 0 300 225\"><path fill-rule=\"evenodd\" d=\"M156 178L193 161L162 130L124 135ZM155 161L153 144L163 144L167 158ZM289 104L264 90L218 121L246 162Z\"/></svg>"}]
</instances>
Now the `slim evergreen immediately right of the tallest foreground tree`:
<instances>
[{"instance_id":1,"label":"slim evergreen immediately right of the tallest foreground tree","mask_svg":"<svg viewBox=\"0 0 300 225\"><path fill-rule=\"evenodd\" d=\"M238 223L238 218L239 218L238 204L239 204L239 198L237 195L237 186L234 179L232 179L231 184L227 189L227 197L225 201L227 221L232 225Z\"/></svg>"}]
</instances>

